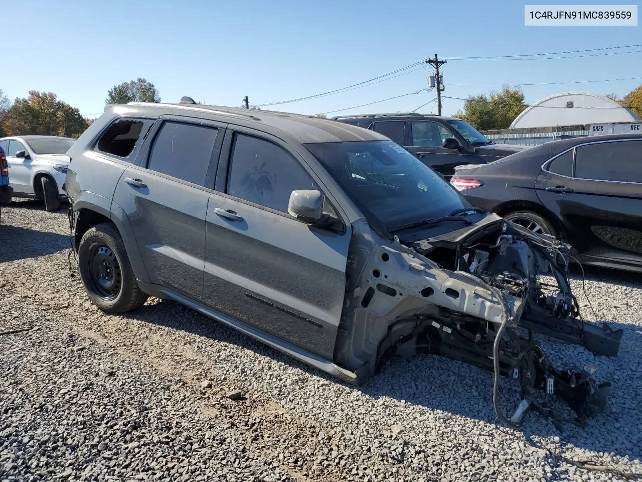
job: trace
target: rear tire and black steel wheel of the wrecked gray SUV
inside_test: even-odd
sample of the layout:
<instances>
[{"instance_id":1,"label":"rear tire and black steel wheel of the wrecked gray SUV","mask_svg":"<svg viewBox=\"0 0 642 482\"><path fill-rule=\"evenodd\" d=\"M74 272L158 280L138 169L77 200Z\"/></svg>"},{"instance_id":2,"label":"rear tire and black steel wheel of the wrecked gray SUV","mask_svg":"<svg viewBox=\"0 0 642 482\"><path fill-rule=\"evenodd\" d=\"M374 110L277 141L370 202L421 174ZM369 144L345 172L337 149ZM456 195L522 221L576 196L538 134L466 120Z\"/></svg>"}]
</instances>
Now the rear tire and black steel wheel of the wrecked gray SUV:
<instances>
[{"instance_id":1,"label":"rear tire and black steel wheel of the wrecked gray SUV","mask_svg":"<svg viewBox=\"0 0 642 482\"><path fill-rule=\"evenodd\" d=\"M90 228L78 245L78 269L87 295L105 313L125 313L148 298L141 291L125 244L110 222Z\"/></svg>"}]
</instances>

